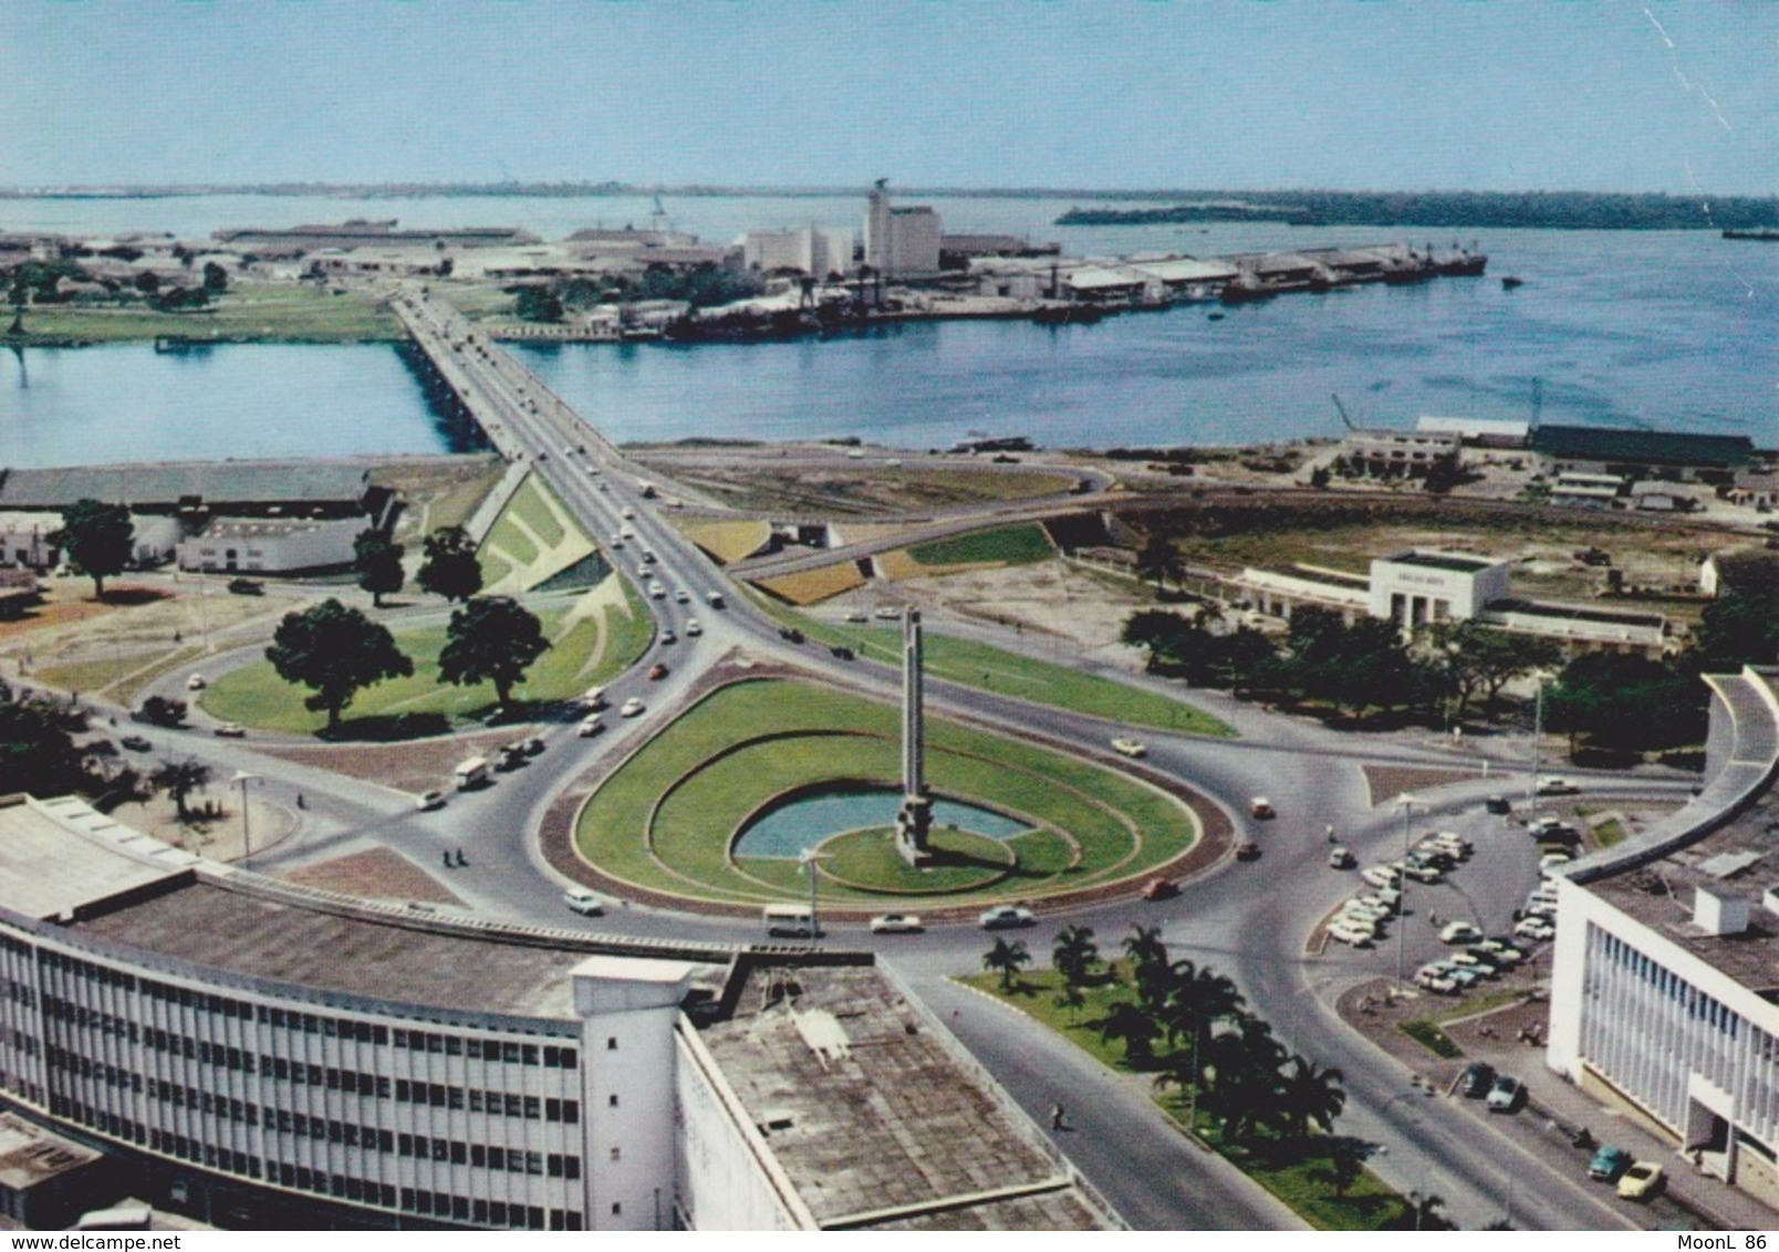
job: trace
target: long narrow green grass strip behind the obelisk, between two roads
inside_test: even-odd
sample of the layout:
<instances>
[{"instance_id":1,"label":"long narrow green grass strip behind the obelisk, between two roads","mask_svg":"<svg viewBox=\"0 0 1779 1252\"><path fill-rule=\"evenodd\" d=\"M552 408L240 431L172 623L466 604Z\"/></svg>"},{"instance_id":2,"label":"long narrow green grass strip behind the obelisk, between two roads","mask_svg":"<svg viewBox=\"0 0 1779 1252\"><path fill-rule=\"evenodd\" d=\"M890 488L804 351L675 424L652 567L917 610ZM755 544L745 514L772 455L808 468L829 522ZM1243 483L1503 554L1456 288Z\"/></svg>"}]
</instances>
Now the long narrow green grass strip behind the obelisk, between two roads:
<instances>
[{"instance_id":1,"label":"long narrow green grass strip behind the obelisk, between two roads","mask_svg":"<svg viewBox=\"0 0 1779 1252\"><path fill-rule=\"evenodd\" d=\"M767 614L829 647L845 644L859 656L900 665L902 631L898 626L840 626L783 605L756 598ZM1067 665L1021 656L991 644L941 635L929 630L923 638L927 674L964 686L980 686L1014 695L1034 704L1066 708L1089 717L1103 717L1126 726L1149 726L1181 734L1235 738L1235 731L1210 713L1171 695L1115 683L1110 678L1082 674Z\"/></svg>"}]
</instances>

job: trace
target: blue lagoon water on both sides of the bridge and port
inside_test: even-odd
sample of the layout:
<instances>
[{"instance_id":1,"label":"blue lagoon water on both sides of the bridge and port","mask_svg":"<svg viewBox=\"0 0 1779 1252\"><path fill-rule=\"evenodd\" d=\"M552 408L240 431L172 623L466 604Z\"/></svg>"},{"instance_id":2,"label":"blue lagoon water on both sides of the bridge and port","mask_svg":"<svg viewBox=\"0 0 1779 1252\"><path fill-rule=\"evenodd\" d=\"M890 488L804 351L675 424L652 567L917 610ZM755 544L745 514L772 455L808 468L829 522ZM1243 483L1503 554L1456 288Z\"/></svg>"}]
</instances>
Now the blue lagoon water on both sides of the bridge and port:
<instances>
[{"instance_id":1,"label":"blue lagoon water on both sides of the bridge and port","mask_svg":"<svg viewBox=\"0 0 1779 1252\"><path fill-rule=\"evenodd\" d=\"M936 197L952 229L1060 240L1071 254L1217 256L1425 231L1270 224L1055 228L1062 201ZM861 199L687 197L674 226L728 240L754 224L854 226ZM197 197L0 201L0 228L176 229L400 217L519 222L544 237L648 224L626 199L345 201ZM1445 247L1450 233L1432 242ZM1469 235L1464 235L1469 242ZM1331 436L1356 420L1530 418L1747 434L1779 445L1779 245L1713 231L1480 231L1482 279L1286 295L1098 325L934 322L831 341L525 345L527 365L616 439L861 436L900 448L970 432L1050 446ZM1507 292L1500 276L1525 286ZM1213 320L1210 313L1224 313ZM386 347L146 345L0 354L0 464L180 455L445 450L441 423Z\"/></svg>"}]
</instances>

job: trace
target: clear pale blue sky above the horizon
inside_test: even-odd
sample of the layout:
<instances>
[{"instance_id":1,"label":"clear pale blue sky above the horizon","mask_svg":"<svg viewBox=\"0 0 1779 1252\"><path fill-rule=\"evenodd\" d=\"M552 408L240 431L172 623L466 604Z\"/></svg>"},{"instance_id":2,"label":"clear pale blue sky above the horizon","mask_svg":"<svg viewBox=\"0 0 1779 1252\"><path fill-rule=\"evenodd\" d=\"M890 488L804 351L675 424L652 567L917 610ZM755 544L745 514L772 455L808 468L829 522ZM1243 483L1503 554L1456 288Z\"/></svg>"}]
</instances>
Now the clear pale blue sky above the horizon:
<instances>
[{"instance_id":1,"label":"clear pale blue sky above the horizon","mask_svg":"<svg viewBox=\"0 0 1779 1252\"><path fill-rule=\"evenodd\" d=\"M1779 194L1768 0L5 0L0 187Z\"/></svg>"}]
</instances>

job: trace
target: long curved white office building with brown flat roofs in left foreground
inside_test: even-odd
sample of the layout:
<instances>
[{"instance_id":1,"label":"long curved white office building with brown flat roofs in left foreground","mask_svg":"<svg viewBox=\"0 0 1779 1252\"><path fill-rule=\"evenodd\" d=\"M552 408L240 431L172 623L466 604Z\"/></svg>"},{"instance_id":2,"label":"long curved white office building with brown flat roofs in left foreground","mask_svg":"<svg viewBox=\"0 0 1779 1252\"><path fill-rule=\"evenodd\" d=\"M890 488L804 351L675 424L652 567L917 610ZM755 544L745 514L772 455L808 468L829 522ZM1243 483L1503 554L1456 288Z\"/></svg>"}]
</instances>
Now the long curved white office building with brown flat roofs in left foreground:
<instances>
[{"instance_id":1,"label":"long curved white office building with brown flat roofs in left foreground","mask_svg":"<svg viewBox=\"0 0 1779 1252\"><path fill-rule=\"evenodd\" d=\"M1117 1225L868 953L503 927L0 800L0 1099L315 1227Z\"/></svg>"}]
</instances>

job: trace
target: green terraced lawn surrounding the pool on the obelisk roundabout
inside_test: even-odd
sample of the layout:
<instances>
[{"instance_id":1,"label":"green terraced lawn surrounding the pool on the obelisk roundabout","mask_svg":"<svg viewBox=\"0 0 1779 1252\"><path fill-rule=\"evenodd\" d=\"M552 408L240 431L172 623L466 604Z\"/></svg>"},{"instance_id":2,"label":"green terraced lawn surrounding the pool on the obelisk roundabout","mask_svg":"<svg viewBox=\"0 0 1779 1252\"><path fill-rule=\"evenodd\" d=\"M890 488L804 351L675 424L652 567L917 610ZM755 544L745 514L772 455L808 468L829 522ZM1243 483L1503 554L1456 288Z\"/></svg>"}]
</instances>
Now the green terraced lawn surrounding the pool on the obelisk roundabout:
<instances>
[{"instance_id":1,"label":"green terraced lawn surrounding the pool on the obelisk roundabout","mask_svg":"<svg viewBox=\"0 0 1779 1252\"><path fill-rule=\"evenodd\" d=\"M952 903L1135 877L1197 838L1183 806L1112 770L941 720L929 720L927 745L939 795L1046 827L1010 841L1021 861L1009 877L980 896L946 896ZM738 683L708 695L607 779L582 811L576 839L594 864L626 882L729 902L776 900L786 884L795 889L797 864L733 863L729 845L747 818L811 782L893 782L898 761L890 704L806 683ZM834 880L824 895L852 903L893 898Z\"/></svg>"}]
</instances>

